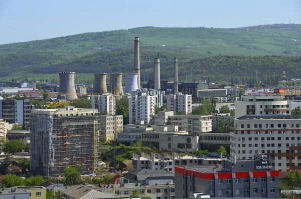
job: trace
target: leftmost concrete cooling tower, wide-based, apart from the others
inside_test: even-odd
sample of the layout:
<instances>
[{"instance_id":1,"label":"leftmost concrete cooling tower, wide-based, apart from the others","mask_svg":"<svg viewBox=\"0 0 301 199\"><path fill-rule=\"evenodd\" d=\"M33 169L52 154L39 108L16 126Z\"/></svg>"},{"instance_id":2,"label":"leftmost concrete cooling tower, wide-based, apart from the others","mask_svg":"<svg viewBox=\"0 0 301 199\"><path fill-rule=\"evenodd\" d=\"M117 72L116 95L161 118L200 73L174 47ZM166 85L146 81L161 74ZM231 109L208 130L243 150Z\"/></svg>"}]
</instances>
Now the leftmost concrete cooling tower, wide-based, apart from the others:
<instances>
[{"instance_id":1,"label":"leftmost concrete cooling tower, wide-based, apart from the others","mask_svg":"<svg viewBox=\"0 0 301 199\"><path fill-rule=\"evenodd\" d=\"M66 95L58 95L57 99L74 100L77 99L74 76L75 72L62 72L60 75L59 93L67 93ZM72 95L74 93L74 95ZM70 95L71 94L71 95Z\"/></svg>"}]
</instances>

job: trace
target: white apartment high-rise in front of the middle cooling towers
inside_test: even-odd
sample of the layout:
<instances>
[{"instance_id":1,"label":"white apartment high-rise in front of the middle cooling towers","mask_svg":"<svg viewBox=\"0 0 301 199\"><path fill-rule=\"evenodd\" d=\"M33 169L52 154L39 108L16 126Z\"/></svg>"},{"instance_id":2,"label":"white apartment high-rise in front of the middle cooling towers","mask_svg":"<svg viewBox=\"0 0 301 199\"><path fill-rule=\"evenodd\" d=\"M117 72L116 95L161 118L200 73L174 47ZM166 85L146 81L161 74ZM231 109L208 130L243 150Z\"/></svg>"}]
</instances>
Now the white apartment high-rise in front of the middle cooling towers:
<instances>
[{"instance_id":1,"label":"white apartment high-rise in front of the middle cooling towers","mask_svg":"<svg viewBox=\"0 0 301 199\"><path fill-rule=\"evenodd\" d=\"M115 115L116 113L116 100L115 97L110 94L103 95L92 95L92 109L98 109L98 112L103 115L106 113L107 115Z\"/></svg>"}]
</instances>

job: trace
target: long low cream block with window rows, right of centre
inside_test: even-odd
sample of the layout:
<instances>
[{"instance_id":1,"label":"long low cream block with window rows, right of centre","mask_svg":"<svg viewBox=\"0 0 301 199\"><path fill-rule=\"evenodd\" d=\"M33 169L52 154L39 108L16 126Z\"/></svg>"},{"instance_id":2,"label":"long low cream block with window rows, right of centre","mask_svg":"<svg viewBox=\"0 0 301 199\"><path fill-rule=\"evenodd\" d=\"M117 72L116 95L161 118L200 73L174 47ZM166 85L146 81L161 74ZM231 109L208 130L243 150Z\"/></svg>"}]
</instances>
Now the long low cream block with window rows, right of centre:
<instances>
[{"instance_id":1,"label":"long low cream block with window rows, right of centre","mask_svg":"<svg viewBox=\"0 0 301 199\"><path fill-rule=\"evenodd\" d=\"M185 130L190 134L212 131L213 115L170 115L168 125L179 126L179 131Z\"/></svg>"}]
</instances>

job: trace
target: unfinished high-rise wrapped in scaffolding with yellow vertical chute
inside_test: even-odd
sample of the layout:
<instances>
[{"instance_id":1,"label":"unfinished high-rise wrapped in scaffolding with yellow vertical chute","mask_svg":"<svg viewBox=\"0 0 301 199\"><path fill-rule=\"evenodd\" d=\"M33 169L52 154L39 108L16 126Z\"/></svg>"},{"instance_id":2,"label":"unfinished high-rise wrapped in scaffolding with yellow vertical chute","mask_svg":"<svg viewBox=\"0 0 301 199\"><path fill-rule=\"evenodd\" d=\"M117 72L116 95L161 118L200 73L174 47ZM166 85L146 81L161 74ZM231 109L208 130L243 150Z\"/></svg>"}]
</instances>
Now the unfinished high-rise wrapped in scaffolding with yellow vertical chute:
<instances>
[{"instance_id":1,"label":"unfinished high-rise wrapped in scaffolding with yellow vertical chute","mask_svg":"<svg viewBox=\"0 0 301 199\"><path fill-rule=\"evenodd\" d=\"M98 143L97 109L65 106L30 114L30 170L43 176L63 176L68 166L80 174L95 171Z\"/></svg>"}]
</instances>

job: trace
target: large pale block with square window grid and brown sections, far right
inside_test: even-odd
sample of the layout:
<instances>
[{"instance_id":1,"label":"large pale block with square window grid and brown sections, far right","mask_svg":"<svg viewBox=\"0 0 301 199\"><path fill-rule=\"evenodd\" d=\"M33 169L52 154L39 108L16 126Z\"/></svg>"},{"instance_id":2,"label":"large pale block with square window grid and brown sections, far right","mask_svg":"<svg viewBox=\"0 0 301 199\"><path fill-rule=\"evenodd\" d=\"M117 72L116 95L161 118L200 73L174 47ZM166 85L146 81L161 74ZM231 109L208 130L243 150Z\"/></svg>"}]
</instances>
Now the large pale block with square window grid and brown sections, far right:
<instances>
[{"instance_id":1,"label":"large pale block with square window grid and brown sections, far right","mask_svg":"<svg viewBox=\"0 0 301 199\"><path fill-rule=\"evenodd\" d=\"M279 171L301 169L301 119L289 115L246 115L234 120L232 158L268 155Z\"/></svg>"}]
</instances>

